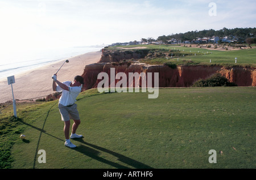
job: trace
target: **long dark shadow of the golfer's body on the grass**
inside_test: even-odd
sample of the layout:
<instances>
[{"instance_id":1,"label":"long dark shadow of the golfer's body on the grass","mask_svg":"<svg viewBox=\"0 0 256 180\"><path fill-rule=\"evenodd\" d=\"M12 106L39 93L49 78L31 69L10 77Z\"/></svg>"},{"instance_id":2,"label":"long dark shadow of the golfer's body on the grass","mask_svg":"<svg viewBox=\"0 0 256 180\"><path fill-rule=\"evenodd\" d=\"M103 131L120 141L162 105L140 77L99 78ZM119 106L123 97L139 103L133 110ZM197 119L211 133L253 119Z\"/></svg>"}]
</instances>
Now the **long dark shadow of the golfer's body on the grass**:
<instances>
[{"instance_id":1,"label":"long dark shadow of the golfer's body on the grass","mask_svg":"<svg viewBox=\"0 0 256 180\"><path fill-rule=\"evenodd\" d=\"M74 148L76 151L81 152L81 153L83 153L86 156L92 157L95 160L104 162L105 164L109 164L109 165L111 165L111 166L113 166L115 168L125 169L125 168L128 168L128 167L120 165L120 164L117 164L117 163L109 161L109 160L106 160L106 159L104 159L102 157L99 157L98 155L100 154L100 151L109 153L110 155L113 155L113 156L117 157L119 161L121 161L121 162L123 162L123 163L125 163L127 165L133 166L136 169L152 169L152 167L150 167L150 166L148 166L146 164L143 164L142 162L133 160L132 158L123 156L123 155L121 155L121 154L119 154L117 152L113 152L113 151L110 151L109 149L99 147L98 145L94 145L94 144L90 144L90 143L84 142L84 140L82 138L80 138L80 139L73 139L73 140L76 140L77 142L83 143L85 145L88 145L88 146L94 148L94 149L92 149L90 147L86 147L85 145L79 145L77 148ZM97 149L99 151L97 151L95 149Z\"/></svg>"}]
</instances>

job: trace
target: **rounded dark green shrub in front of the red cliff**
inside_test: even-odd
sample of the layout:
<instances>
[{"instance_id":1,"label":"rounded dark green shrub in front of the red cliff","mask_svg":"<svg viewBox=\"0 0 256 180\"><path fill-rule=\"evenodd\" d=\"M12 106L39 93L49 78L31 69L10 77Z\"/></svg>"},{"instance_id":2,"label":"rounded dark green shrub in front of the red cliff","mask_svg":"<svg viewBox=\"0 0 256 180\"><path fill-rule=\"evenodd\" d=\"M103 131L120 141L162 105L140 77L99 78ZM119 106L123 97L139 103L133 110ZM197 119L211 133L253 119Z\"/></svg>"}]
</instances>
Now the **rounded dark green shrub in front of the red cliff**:
<instances>
[{"instance_id":1,"label":"rounded dark green shrub in front of the red cliff","mask_svg":"<svg viewBox=\"0 0 256 180\"><path fill-rule=\"evenodd\" d=\"M224 76L217 73L208 79L200 79L195 82L192 87L232 87L237 86L236 83L229 82Z\"/></svg>"}]
</instances>

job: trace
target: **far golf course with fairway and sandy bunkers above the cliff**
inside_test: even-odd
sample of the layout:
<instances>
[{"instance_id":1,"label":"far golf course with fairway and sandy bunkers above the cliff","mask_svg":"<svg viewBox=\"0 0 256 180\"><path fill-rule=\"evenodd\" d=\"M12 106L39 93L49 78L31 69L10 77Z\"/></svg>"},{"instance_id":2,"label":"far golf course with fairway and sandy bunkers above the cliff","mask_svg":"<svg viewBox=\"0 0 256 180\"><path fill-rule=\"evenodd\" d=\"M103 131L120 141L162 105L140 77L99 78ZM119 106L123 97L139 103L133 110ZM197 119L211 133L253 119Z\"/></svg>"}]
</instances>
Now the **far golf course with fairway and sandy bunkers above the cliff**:
<instances>
[{"instance_id":1,"label":"far golf course with fairway and sandy bunkers above the cliff","mask_svg":"<svg viewBox=\"0 0 256 180\"><path fill-rule=\"evenodd\" d=\"M191 46L191 47L189 47ZM211 48L208 48L211 46ZM255 67L255 53L256 48L253 49L232 47L228 45L130 45L123 48L123 46L114 46L117 49L151 49L155 50L154 55L145 57L139 62L149 63L152 65L163 63L175 63L176 65L224 65L224 66L251 66ZM225 50L226 49L226 50ZM166 54L168 58L166 58ZM237 61L236 61L237 59Z\"/></svg>"}]
</instances>

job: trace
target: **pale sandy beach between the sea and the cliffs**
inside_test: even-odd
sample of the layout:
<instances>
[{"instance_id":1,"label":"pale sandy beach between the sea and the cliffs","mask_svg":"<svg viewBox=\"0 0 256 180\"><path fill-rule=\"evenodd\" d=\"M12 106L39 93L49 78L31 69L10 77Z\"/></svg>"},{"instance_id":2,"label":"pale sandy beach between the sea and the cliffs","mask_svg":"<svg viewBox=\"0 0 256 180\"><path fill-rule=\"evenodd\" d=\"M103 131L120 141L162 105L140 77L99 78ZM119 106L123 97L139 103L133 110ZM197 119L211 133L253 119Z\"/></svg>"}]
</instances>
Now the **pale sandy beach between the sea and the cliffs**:
<instances>
[{"instance_id":1,"label":"pale sandy beach between the sea and the cliffs","mask_svg":"<svg viewBox=\"0 0 256 180\"><path fill-rule=\"evenodd\" d=\"M76 75L82 75L86 65L100 61L101 52L90 52L66 58L69 63L65 63L57 73L60 82L72 81ZM63 65L64 61L50 63L42 67L34 68L30 71L15 75L13 84L14 98L16 100L37 99L54 93L52 91L52 75ZM0 103L13 100L11 85L8 85L7 78L0 79Z\"/></svg>"}]
</instances>

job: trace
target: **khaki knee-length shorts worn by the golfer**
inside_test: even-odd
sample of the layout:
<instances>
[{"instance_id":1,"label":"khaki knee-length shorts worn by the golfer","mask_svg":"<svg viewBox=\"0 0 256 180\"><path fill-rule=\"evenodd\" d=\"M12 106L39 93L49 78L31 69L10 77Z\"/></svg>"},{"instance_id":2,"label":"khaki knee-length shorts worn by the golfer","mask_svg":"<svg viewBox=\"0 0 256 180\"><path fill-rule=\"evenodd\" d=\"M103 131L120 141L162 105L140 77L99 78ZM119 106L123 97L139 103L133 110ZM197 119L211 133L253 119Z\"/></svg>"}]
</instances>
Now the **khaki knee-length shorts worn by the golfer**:
<instances>
[{"instance_id":1,"label":"khaki knee-length shorts worn by the golfer","mask_svg":"<svg viewBox=\"0 0 256 180\"><path fill-rule=\"evenodd\" d=\"M77 104L73 104L72 106L63 106L62 104L59 104L59 110L61 114L61 121L80 119L79 112L77 110Z\"/></svg>"}]
</instances>

